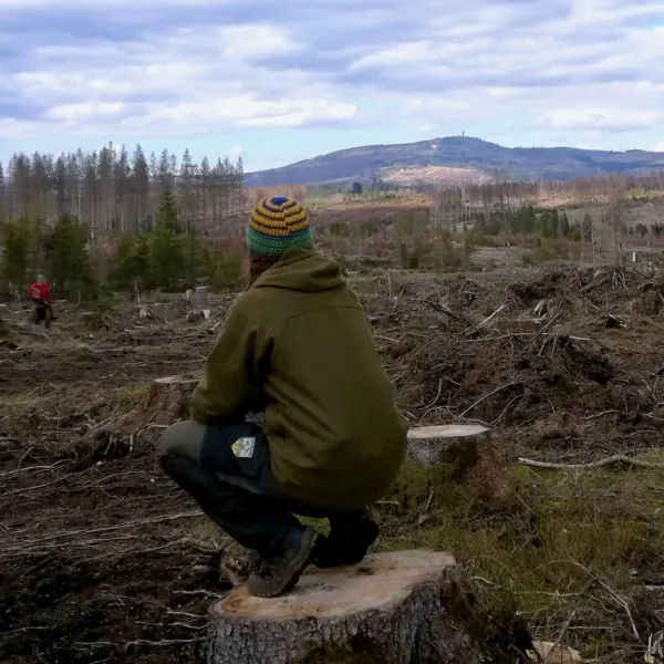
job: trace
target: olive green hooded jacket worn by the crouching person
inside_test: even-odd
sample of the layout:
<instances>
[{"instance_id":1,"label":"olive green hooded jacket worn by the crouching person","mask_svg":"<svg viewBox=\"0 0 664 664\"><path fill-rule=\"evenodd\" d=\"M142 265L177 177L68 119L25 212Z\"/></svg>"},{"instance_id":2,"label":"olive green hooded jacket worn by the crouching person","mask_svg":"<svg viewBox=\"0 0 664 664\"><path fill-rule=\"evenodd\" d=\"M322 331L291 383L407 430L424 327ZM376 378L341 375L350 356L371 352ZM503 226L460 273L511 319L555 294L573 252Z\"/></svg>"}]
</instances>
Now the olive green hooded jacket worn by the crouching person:
<instances>
[{"instance_id":1,"label":"olive green hooded jacket worn by the crouching person","mask_svg":"<svg viewBox=\"0 0 664 664\"><path fill-rule=\"evenodd\" d=\"M228 310L190 408L203 423L264 411L274 478L314 507L374 502L405 456L407 423L362 305L339 263L307 249Z\"/></svg>"}]
</instances>

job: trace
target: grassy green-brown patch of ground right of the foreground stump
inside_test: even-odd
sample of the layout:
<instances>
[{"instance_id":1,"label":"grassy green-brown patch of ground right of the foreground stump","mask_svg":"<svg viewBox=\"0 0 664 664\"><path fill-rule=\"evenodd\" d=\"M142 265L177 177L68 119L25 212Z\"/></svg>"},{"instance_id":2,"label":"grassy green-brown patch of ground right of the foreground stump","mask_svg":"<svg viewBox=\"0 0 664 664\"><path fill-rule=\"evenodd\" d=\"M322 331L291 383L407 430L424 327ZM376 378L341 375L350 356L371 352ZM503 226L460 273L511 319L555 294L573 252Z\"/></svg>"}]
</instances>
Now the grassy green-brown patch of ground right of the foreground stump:
<instances>
[{"instance_id":1,"label":"grassy green-brown patch of ground right of the foreground stump","mask_svg":"<svg viewBox=\"0 0 664 664\"><path fill-rule=\"evenodd\" d=\"M556 641L573 614L564 637L585 656L633 643L624 602L641 577L664 573L664 470L513 466L510 480L511 504L490 505L449 483L445 468L404 468L398 506L381 509L380 548L452 552L497 609L513 602L538 637Z\"/></svg>"}]
</instances>

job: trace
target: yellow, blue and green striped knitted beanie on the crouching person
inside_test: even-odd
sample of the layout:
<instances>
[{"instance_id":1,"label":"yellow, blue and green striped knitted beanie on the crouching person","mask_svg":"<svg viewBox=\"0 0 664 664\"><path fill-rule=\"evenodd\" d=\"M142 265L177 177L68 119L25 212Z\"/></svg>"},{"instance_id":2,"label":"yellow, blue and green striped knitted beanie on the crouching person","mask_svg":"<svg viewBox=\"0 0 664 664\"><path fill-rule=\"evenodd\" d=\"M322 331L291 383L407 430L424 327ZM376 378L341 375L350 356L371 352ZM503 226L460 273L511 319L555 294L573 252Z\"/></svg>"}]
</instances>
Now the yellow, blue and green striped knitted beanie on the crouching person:
<instances>
[{"instance_id":1,"label":"yellow, blue and green striped knitted beanie on the crouching person","mask_svg":"<svg viewBox=\"0 0 664 664\"><path fill-rule=\"evenodd\" d=\"M313 249L307 210L284 196L261 200L247 227L249 255L279 257L291 247Z\"/></svg>"}]
</instances>

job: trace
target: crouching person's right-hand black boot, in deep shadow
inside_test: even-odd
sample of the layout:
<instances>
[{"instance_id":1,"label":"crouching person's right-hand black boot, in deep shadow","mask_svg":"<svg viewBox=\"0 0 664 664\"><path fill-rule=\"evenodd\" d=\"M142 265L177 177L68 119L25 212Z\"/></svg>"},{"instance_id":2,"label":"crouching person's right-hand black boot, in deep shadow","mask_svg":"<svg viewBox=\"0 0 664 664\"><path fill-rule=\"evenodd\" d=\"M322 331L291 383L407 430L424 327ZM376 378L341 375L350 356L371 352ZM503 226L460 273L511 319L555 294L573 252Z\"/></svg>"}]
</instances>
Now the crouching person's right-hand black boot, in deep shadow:
<instances>
[{"instance_id":1,"label":"crouching person's right-hand black boot, in deep shadow","mask_svg":"<svg viewBox=\"0 0 664 664\"><path fill-rule=\"evenodd\" d=\"M357 564L380 533L369 508L360 513L330 519L330 537L320 537L313 553L313 564L320 569Z\"/></svg>"}]
</instances>

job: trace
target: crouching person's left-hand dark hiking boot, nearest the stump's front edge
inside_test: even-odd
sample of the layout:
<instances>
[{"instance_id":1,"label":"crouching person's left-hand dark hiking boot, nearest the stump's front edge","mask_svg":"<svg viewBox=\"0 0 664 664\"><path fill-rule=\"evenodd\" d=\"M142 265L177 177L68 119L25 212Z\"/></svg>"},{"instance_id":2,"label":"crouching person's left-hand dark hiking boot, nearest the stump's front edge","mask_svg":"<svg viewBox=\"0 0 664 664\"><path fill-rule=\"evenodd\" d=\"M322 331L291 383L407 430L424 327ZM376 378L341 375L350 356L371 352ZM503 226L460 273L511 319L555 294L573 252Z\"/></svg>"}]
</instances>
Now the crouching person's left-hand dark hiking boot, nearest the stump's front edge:
<instances>
[{"instance_id":1,"label":"crouching person's left-hand dark hiking boot, nearest the stump's front edge","mask_svg":"<svg viewBox=\"0 0 664 664\"><path fill-rule=\"evenodd\" d=\"M290 592L311 562L317 538L312 528L292 530L283 553L263 560L260 569L249 577L249 593L257 598L278 598Z\"/></svg>"}]
</instances>

